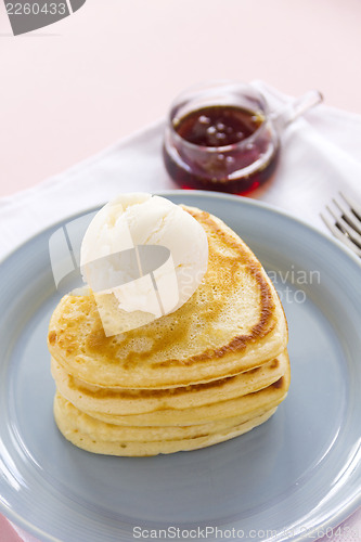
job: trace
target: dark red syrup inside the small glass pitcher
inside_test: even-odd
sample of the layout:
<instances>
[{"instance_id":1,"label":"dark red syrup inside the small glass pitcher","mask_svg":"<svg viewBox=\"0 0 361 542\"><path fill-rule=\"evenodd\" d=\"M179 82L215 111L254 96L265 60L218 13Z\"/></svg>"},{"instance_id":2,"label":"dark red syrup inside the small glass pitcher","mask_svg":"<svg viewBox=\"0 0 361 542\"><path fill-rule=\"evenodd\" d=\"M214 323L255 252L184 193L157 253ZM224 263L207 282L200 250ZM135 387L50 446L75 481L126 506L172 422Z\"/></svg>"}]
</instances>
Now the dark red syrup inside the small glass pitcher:
<instances>
[{"instance_id":1,"label":"dark red syrup inside the small glass pitcher","mask_svg":"<svg viewBox=\"0 0 361 542\"><path fill-rule=\"evenodd\" d=\"M262 129L263 122L261 114L233 105L186 114L173 121L180 138L175 149L169 152L167 144L164 149L170 177L183 189L233 194L255 190L272 176L278 162L273 134L266 125ZM190 149L186 142L196 147Z\"/></svg>"}]
</instances>

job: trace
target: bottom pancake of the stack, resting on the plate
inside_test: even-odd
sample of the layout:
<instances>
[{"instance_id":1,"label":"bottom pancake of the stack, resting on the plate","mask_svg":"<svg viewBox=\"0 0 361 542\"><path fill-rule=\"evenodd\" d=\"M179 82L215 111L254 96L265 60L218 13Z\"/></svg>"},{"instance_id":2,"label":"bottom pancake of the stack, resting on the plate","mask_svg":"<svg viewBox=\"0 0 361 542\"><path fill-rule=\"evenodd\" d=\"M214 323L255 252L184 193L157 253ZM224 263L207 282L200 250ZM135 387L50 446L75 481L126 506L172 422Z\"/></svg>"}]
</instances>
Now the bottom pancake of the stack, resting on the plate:
<instances>
[{"instance_id":1,"label":"bottom pancake of the stack, resting on the plate","mask_svg":"<svg viewBox=\"0 0 361 542\"><path fill-rule=\"evenodd\" d=\"M216 444L249 431L274 412L275 408L248 420L235 417L218 425L178 427L177 431L170 427L167 430L163 428L163 433L159 433L149 427L124 428L93 420L60 393L56 393L54 400L54 417L67 440L89 452L123 456L175 453Z\"/></svg>"}]
</instances>

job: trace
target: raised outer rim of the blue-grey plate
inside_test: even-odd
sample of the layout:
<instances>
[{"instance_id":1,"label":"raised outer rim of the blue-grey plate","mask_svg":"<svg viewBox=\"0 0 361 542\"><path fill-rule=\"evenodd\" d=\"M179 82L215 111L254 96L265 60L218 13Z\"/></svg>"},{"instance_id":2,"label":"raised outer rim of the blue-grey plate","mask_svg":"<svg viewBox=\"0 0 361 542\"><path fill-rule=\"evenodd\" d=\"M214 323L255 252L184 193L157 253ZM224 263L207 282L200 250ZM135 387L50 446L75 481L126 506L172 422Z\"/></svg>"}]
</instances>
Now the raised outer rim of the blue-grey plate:
<instances>
[{"instance_id":1,"label":"raised outer rim of the blue-grey plate","mask_svg":"<svg viewBox=\"0 0 361 542\"><path fill-rule=\"evenodd\" d=\"M139 191L139 192L141 192L141 191ZM234 203L234 204L241 204L241 205L246 205L246 206L250 206L250 207L266 209L267 211L271 212L271 215L280 216L280 217L282 217L282 219L289 220L293 223L297 223L301 228L306 228L308 231L310 231L313 234L315 234L317 236L321 237L323 240L323 242L333 245L337 250L340 250L347 258L352 260L353 263L361 271L361 259L358 258L358 256L354 255L354 253L352 253L352 250L349 249L346 245L344 245L340 241L331 236L327 232L323 232L317 225L310 224L309 222L307 222L302 218L293 216L292 211L280 208L273 204L269 204L268 202L263 202L263 201L247 197L247 196L227 194L227 193L222 193L222 192L207 192L207 191L198 191L198 190L160 190L160 191L154 191L154 192L152 192L152 194L164 196L164 197L175 196L175 195L176 196L183 195L185 197L198 196L198 197L206 198L206 199L223 201L223 202L230 202L230 203ZM51 224L40 229L35 234L33 234L29 237L27 237L26 240L24 240L22 243L16 245L12 250L10 250L8 254L5 254L0 259L0 273L2 272L3 266L5 266L7 263L11 263L11 260L13 258L15 258L18 253L22 253L22 250L24 250L24 248L27 245L31 244L40 236L46 235L47 232L50 232L51 230L60 228L66 221L75 220L76 218L79 218L86 214L96 211L103 205L105 205L105 203L106 202L100 203L96 206L86 207L76 214L67 215L67 216L63 217L62 219L56 220L55 222L52 222ZM331 524L332 524L332 528L339 526L352 513L354 513L360 507L360 505L361 505L361 492L359 493L358 498L350 500L350 502L348 502L345 507L337 508L337 512L333 513L331 515L331 517L324 519L321 522L321 526L318 527L318 530L321 531L323 527L331 526ZM1 499L0 499L0 513L3 514L3 516L8 520L13 521L17 527L23 528L26 531L26 533L33 534L34 537L38 538L39 540L46 540L47 542L61 542L60 539L54 538L52 534L49 534L48 532L42 530L42 528L39 528L36 525L31 524L23 515L15 512L10 505L7 506L7 504ZM299 535L297 535L297 534L294 535L291 540L304 541L304 540L308 540L308 538L309 538L308 532L305 532L305 534L300 533Z\"/></svg>"}]
</instances>

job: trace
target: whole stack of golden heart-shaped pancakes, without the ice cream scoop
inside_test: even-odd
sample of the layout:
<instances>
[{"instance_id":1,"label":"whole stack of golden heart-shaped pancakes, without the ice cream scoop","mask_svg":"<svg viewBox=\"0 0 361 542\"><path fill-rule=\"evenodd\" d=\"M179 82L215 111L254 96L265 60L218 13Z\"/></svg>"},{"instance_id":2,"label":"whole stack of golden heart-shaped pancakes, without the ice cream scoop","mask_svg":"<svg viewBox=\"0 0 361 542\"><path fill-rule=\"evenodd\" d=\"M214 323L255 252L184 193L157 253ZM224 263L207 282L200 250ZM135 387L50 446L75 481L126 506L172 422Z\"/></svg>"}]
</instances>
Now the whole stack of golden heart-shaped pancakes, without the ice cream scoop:
<instances>
[{"instance_id":1,"label":"whole stack of golden heart-shaped pancakes, without the ice cream scoop","mask_svg":"<svg viewBox=\"0 0 361 542\"><path fill-rule=\"evenodd\" d=\"M48 345L61 433L90 452L194 450L266 422L286 397L287 324L260 262L221 220L205 229L208 269L176 312L106 337L92 294L66 295Z\"/></svg>"}]
</instances>

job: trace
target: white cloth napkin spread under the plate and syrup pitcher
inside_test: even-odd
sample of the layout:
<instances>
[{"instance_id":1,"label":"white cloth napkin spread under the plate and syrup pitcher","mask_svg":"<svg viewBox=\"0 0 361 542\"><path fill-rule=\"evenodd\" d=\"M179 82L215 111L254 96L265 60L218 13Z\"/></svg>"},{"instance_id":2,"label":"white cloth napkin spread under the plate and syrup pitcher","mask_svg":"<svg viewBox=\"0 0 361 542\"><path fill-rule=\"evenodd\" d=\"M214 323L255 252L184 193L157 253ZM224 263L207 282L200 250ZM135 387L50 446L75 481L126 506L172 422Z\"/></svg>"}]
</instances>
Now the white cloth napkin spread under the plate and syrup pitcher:
<instances>
[{"instance_id":1,"label":"white cloth napkin spread under the plate and syrup pitcher","mask_svg":"<svg viewBox=\"0 0 361 542\"><path fill-rule=\"evenodd\" d=\"M253 85L272 109L292 100L261 81ZM163 131L162 120L30 190L1 198L0 258L55 221L119 192L177 188L163 165ZM338 191L361 202L361 116L322 104L286 129L273 182L250 196L325 229L319 214ZM361 511L344 524L335 540L359 540L354 532L361 532Z\"/></svg>"}]
</instances>

